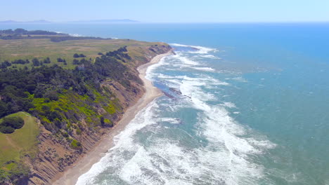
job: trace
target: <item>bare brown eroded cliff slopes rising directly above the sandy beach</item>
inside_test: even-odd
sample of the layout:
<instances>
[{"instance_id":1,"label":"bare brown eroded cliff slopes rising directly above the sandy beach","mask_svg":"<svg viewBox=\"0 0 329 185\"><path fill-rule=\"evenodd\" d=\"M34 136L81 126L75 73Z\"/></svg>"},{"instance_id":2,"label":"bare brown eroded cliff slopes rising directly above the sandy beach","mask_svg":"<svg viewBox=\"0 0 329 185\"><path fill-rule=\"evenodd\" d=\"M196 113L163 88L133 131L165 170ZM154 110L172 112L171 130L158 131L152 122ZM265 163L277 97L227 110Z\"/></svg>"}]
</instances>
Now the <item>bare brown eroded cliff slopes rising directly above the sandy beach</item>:
<instances>
[{"instance_id":1,"label":"bare brown eroded cliff slopes rising directly above the sandy beach","mask_svg":"<svg viewBox=\"0 0 329 185\"><path fill-rule=\"evenodd\" d=\"M137 75L136 67L149 62L155 55L167 53L170 49L168 46L154 46L152 50L143 50L143 59L139 57L138 60L131 60L134 63L131 65L131 74ZM143 85L136 82L131 83L131 87L133 88L125 88L115 81L105 81L101 85L103 88L114 93L117 100L119 100L117 106L120 107L120 111L117 114L111 115L112 118L110 119L114 125L120 121L127 108L135 104L144 93ZM94 107L96 107L99 114L106 112L105 109L98 107L97 104ZM82 149L79 150L72 149L70 142L58 139L58 137L54 137L48 130L41 129L41 134L39 135L39 153L35 161L37 165L33 166L33 172L30 174L29 179L31 184L51 182L59 172L63 172L67 167L75 163L75 161L79 160L84 153L93 149L102 139L102 136L111 130L111 128L102 127L90 128L84 119L81 122L82 126L80 130L83 130L82 133L77 135L76 132L72 132L72 137L77 138L77 141L81 143Z\"/></svg>"}]
</instances>

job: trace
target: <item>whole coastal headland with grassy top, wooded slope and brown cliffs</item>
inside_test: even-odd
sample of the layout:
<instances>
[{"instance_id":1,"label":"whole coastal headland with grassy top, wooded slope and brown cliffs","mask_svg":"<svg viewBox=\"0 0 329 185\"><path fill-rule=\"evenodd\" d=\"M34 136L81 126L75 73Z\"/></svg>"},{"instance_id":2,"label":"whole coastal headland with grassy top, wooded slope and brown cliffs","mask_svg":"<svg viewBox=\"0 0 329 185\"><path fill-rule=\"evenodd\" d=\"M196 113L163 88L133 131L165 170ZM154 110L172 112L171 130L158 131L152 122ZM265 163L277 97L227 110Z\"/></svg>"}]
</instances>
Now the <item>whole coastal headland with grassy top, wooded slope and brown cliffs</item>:
<instances>
[{"instance_id":1,"label":"whole coastal headland with grassy top, wooded slope and brown cliffs","mask_svg":"<svg viewBox=\"0 0 329 185\"><path fill-rule=\"evenodd\" d=\"M49 184L143 95L136 67L171 50L166 43L40 33L2 32L0 39L0 118L25 122L0 134L2 184Z\"/></svg>"}]
</instances>

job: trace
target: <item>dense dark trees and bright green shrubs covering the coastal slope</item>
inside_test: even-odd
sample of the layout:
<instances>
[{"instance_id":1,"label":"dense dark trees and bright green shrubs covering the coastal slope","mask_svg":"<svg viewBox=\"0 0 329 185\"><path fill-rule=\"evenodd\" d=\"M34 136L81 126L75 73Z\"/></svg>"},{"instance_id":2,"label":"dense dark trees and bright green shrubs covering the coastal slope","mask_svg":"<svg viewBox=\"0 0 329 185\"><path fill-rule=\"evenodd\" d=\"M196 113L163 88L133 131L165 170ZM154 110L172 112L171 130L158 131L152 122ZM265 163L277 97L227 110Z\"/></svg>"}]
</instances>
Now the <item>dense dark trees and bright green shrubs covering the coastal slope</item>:
<instances>
[{"instance_id":1,"label":"dense dark trees and bright green shrubs covering the coastal slope","mask_svg":"<svg viewBox=\"0 0 329 185\"><path fill-rule=\"evenodd\" d=\"M32 63L36 66L40 63L41 67L1 69L0 117L27 111L39 118L47 130L53 133L65 130L69 137L74 137L74 130L81 134L81 128L77 130L72 125L82 120L90 128L112 127L122 107L115 94L101 84L115 81L127 91L138 93L132 83L141 80L127 65L134 65L131 60L124 46L94 60L77 60L75 69L64 69L58 64L46 66L36 58ZM49 57L44 61L49 61ZM58 57L57 61L63 59ZM3 126L2 131L11 133L12 128Z\"/></svg>"}]
</instances>

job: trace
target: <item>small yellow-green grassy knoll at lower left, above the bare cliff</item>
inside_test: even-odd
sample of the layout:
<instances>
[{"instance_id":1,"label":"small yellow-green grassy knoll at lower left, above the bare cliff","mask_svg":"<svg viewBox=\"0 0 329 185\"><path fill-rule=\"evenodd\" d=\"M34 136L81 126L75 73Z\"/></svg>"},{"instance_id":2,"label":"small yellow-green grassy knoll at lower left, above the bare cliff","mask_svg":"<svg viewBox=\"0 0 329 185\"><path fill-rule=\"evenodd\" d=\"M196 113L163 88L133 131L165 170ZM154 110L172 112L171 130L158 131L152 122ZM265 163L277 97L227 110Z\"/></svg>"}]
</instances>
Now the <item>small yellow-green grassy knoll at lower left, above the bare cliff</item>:
<instances>
[{"instance_id":1,"label":"small yellow-green grassy knoll at lower left, above the bare cliff","mask_svg":"<svg viewBox=\"0 0 329 185\"><path fill-rule=\"evenodd\" d=\"M25 165L25 156L37 156L37 136L39 125L37 119L26 112L18 112L0 119L4 123L6 118L22 118L25 122L22 128L11 134L0 133L0 184L5 179L18 179L27 176L29 168Z\"/></svg>"}]
</instances>

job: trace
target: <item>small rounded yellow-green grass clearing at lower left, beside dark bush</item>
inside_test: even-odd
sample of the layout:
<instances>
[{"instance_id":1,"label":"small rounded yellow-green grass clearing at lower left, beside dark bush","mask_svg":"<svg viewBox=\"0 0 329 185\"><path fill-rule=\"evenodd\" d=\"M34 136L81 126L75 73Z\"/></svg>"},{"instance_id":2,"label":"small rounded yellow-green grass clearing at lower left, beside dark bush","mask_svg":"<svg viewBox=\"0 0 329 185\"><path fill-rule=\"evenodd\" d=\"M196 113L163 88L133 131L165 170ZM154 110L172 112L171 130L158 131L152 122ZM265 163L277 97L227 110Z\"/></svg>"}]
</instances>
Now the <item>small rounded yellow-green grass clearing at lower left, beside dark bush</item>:
<instances>
[{"instance_id":1,"label":"small rounded yellow-green grass clearing at lower left, beside dark bush","mask_svg":"<svg viewBox=\"0 0 329 185\"><path fill-rule=\"evenodd\" d=\"M34 158L37 154L37 136L39 135L37 118L26 112L18 112L8 117L18 116L24 119L25 124L22 128L11 134L0 132L0 168L5 171L11 170L14 165L20 163L22 157L28 155ZM2 119L0 123L1 121Z\"/></svg>"}]
</instances>

